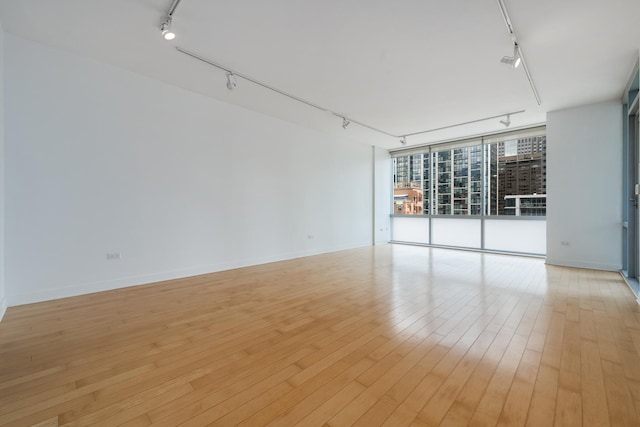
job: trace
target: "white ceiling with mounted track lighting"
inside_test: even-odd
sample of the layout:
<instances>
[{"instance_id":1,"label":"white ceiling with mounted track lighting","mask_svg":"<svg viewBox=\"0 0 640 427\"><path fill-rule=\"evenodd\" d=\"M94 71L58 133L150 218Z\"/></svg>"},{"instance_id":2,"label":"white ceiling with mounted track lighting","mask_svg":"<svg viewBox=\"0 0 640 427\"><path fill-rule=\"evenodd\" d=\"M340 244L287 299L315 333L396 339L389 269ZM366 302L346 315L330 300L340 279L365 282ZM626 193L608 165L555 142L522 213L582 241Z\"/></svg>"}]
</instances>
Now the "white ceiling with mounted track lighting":
<instances>
[{"instance_id":1,"label":"white ceiling with mounted track lighting","mask_svg":"<svg viewBox=\"0 0 640 427\"><path fill-rule=\"evenodd\" d=\"M500 58L512 44L497 0L0 0L4 31L226 102L385 148L397 139L238 79L197 53L359 122L403 135L508 112L619 99L640 47L638 0L505 0L536 84ZM498 119L409 137L408 145L504 130Z\"/></svg>"}]
</instances>

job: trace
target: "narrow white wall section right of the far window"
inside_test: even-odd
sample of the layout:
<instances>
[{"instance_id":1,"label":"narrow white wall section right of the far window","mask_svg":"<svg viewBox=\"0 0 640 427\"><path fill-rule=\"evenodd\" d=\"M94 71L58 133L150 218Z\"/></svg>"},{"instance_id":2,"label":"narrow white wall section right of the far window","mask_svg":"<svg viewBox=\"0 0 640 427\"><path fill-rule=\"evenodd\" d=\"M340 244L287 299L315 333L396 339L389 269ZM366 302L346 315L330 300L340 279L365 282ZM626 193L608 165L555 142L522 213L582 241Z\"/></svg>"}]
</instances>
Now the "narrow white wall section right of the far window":
<instances>
[{"instance_id":1,"label":"narrow white wall section right of the far window","mask_svg":"<svg viewBox=\"0 0 640 427\"><path fill-rule=\"evenodd\" d=\"M620 102L550 112L547 263L622 268L621 188Z\"/></svg>"}]
</instances>

